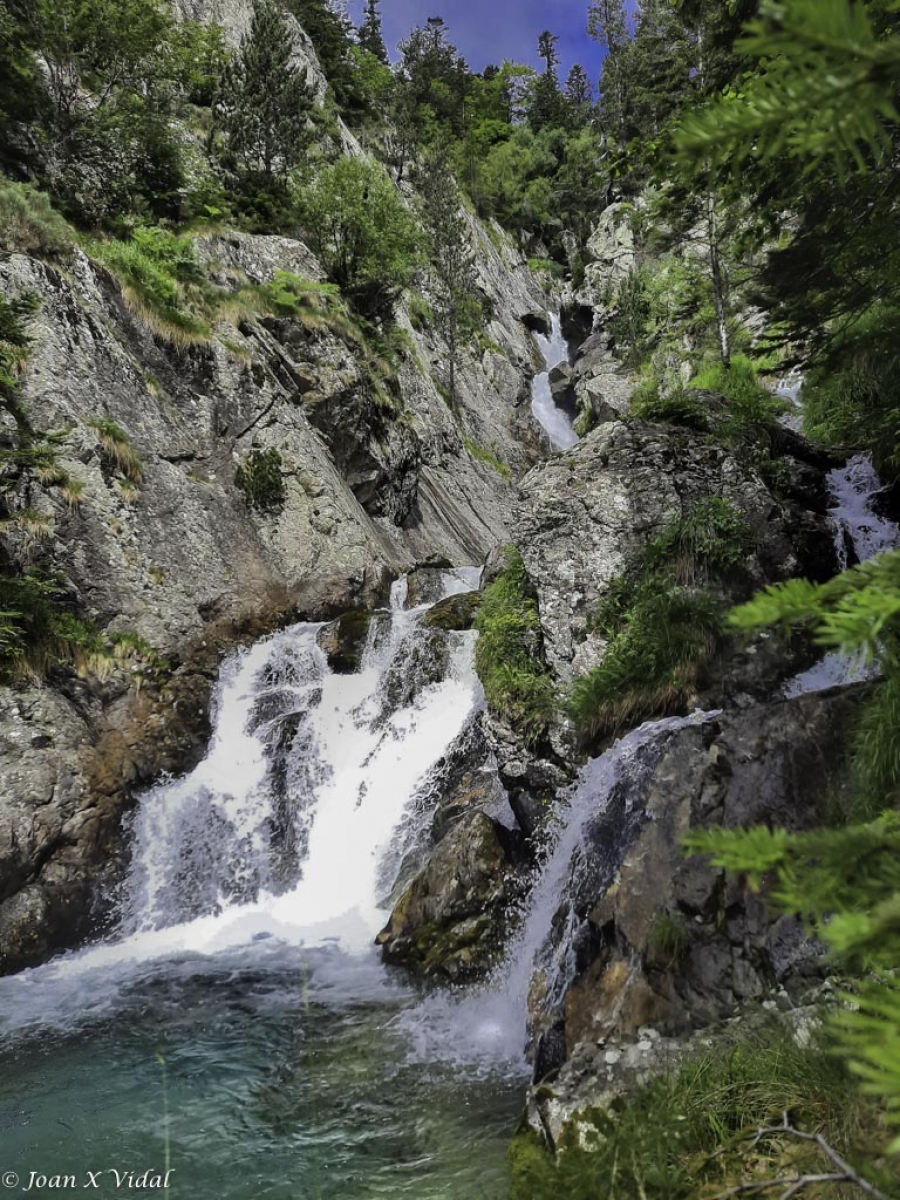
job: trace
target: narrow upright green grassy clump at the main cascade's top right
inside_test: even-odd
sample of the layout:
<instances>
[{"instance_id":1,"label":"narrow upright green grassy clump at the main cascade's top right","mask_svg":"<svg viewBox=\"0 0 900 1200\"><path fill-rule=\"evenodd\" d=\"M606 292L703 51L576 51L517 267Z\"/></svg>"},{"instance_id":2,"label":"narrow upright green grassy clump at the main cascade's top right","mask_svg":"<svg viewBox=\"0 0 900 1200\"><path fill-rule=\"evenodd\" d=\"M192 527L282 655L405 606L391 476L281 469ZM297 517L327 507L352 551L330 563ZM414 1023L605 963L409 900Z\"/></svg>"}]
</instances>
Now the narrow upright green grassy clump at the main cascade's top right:
<instances>
[{"instance_id":1,"label":"narrow upright green grassy clump at the main cascade's top right","mask_svg":"<svg viewBox=\"0 0 900 1200\"><path fill-rule=\"evenodd\" d=\"M541 661L538 605L514 546L506 550L506 569L485 590L475 629L475 670L488 707L535 745L556 718L557 696Z\"/></svg>"}]
</instances>

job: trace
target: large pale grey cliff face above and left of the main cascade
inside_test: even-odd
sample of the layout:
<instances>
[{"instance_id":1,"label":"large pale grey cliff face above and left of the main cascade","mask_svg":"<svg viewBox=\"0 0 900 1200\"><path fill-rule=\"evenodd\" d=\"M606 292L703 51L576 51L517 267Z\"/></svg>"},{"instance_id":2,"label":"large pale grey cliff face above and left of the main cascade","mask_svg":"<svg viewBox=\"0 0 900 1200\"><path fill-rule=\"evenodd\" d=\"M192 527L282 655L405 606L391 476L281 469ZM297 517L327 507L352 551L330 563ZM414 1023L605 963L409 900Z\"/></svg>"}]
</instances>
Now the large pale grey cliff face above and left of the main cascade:
<instances>
[{"instance_id":1,"label":"large pale grey cliff face above and left of the main cascade","mask_svg":"<svg viewBox=\"0 0 900 1200\"><path fill-rule=\"evenodd\" d=\"M235 30L246 11L236 0L191 6ZM25 407L35 428L71 431L62 457L84 488L72 509L53 492L13 503L52 522L42 552L80 614L110 635L140 635L175 671L140 696L122 672L102 686L73 684L77 706L52 688L28 691L28 720L14 712L20 695L0 689L0 970L84 936L100 864L121 851L122 808L160 770L190 764L202 743L220 650L290 614L371 607L416 562L476 564L510 540L509 476L538 454L522 317L540 292L511 247L498 251L474 223L473 235L492 349L463 353L456 412L436 384L442 347L402 313L410 349L386 413L340 331L226 311L209 341L174 346L80 251L65 268L0 263L4 294L42 301ZM198 257L220 287L266 283L278 270L323 277L308 248L284 238L214 236ZM139 454L137 497L118 486L97 419ZM509 476L468 446L488 450ZM284 502L266 511L235 486L254 450L281 456ZM52 742L37 752L32 737Z\"/></svg>"}]
</instances>

